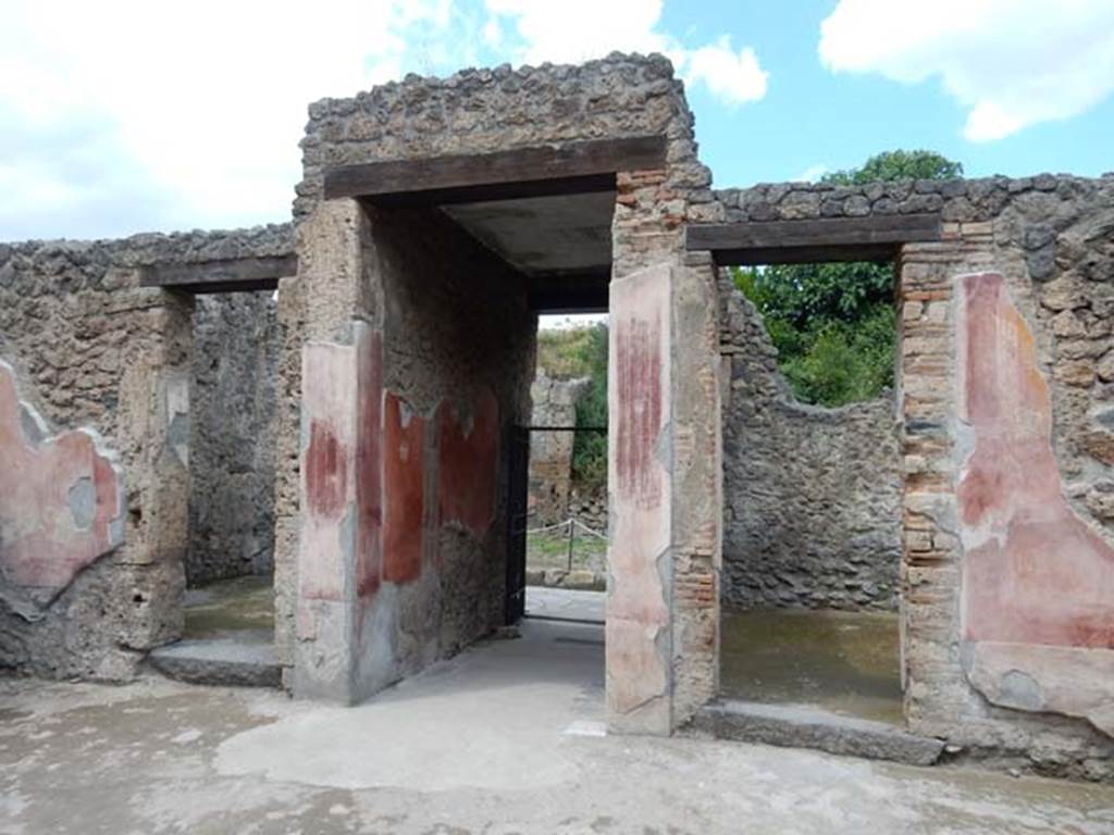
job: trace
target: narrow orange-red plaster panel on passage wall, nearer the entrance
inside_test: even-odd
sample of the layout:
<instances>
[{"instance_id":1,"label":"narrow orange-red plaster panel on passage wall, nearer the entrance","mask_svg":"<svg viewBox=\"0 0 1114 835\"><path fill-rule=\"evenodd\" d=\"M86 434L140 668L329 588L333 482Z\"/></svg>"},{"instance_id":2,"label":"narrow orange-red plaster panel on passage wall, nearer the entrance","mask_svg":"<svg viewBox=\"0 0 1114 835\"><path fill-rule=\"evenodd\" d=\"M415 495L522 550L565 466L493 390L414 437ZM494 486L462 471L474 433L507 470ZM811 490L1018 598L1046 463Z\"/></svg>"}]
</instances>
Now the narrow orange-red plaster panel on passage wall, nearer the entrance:
<instances>
[{"instance_id":1,"label":"narrow orange-red plaster panel on passage wall, nearer the entrance","mask_svg":"<svg viewBox=\"0 0 1114 835\"><path fill-rule=\"evenodd\" d=\"M426 421L405 414L393 392L387 393L383 419L383 579L405 583L421 576Z\"/></svg>"}]
</instances>

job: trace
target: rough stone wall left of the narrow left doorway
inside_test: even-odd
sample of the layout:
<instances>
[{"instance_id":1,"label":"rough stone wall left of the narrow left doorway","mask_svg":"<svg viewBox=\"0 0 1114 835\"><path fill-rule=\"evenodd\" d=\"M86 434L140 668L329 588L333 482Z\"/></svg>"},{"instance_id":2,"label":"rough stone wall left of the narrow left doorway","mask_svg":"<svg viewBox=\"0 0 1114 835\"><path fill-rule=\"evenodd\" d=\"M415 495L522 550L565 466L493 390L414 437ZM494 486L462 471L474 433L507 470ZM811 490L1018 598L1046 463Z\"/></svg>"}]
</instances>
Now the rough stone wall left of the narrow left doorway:
<instances>
[{"instance_id":1,"label":"rough stone wall left of the narrow left doorway","mask_svg":"<svg viewBox=\"0 0 1114 835\"><path fill-rule=\"evenodd\" d=\"M78 492L55 499L66 501L57 508L40 505L41 514L8 515L18 505L0 500L0 665L126 679L147 649L179 635L193 304L139 286L140 272L156 262L289 250L289 227L0 245L0 360L18 380L0 412L23 415L0 454L9 461L96 438L87 460L118 468L124 492L121 538L101 539L84 562L41 536L67 514L81 527L90 502L99 524L111 495L102 477L82 499L75 472Z\"/></svg>"}]
</instances>

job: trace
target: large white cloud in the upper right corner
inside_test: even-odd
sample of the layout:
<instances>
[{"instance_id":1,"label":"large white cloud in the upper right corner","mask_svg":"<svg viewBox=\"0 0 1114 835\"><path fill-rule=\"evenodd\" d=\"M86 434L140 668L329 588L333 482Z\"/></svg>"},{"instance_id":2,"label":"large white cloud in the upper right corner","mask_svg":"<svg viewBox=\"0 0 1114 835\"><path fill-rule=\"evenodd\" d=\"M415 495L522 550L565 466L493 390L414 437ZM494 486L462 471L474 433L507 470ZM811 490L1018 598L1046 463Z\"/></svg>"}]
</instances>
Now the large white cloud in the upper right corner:
<instances>
[{"instance_id":1,"label":"large white cloud in the upper right corner","mask_svg":"<svg viewBox=\"0 0 1114 835\"><path fill-rule=\"evenodd\" d=\"M832 71L939 76L988 141L1084 112L1114 91L1111 0L840 0L820 27Z\"/></svg>"}]
</instances>

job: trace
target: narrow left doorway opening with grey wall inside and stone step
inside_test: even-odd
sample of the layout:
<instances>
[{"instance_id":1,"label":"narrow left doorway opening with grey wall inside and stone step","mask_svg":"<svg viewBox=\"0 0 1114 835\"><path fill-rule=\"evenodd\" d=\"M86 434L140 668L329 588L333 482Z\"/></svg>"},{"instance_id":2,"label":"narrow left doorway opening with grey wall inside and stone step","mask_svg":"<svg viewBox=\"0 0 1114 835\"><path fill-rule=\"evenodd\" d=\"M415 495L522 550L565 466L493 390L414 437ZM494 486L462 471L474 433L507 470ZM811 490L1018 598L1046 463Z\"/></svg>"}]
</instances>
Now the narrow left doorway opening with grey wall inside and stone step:
<instances>
[{"instance_id":1,"label":"narrow left doorway opening with grey wall inside and stone step","mask_svg":"<svg viewBox=\"0 0 1114 835\"><path fill-rule=\"evenodd\" d=\"M156 649L150 662L186 681L277 687L277 292L199 286L192 291L189 422L182 439L189 469L184 626L182 639Z\"/></svg>"}]
</instances>

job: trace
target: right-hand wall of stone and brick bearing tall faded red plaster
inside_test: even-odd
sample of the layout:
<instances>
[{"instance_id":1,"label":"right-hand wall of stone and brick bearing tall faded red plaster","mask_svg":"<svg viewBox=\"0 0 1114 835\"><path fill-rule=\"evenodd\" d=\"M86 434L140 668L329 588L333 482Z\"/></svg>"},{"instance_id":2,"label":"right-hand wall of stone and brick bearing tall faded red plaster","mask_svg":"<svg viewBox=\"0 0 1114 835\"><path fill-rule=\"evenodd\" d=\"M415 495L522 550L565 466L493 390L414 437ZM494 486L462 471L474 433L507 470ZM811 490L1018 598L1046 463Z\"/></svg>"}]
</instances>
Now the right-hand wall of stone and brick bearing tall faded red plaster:
<instances>
[{"instance_id":1,"label":"right-hand wall of stone and brick bearing tall faded red plaster","mask_svg":"<svg viewBox=\"0 0 1114 835\"><path fill-rule=\"evenodd\" d=\"M1114 777L1114 175L719 196L717 219L940 214L900 261L906 715L970 756Z\"/></svg>"}]
</instances>

